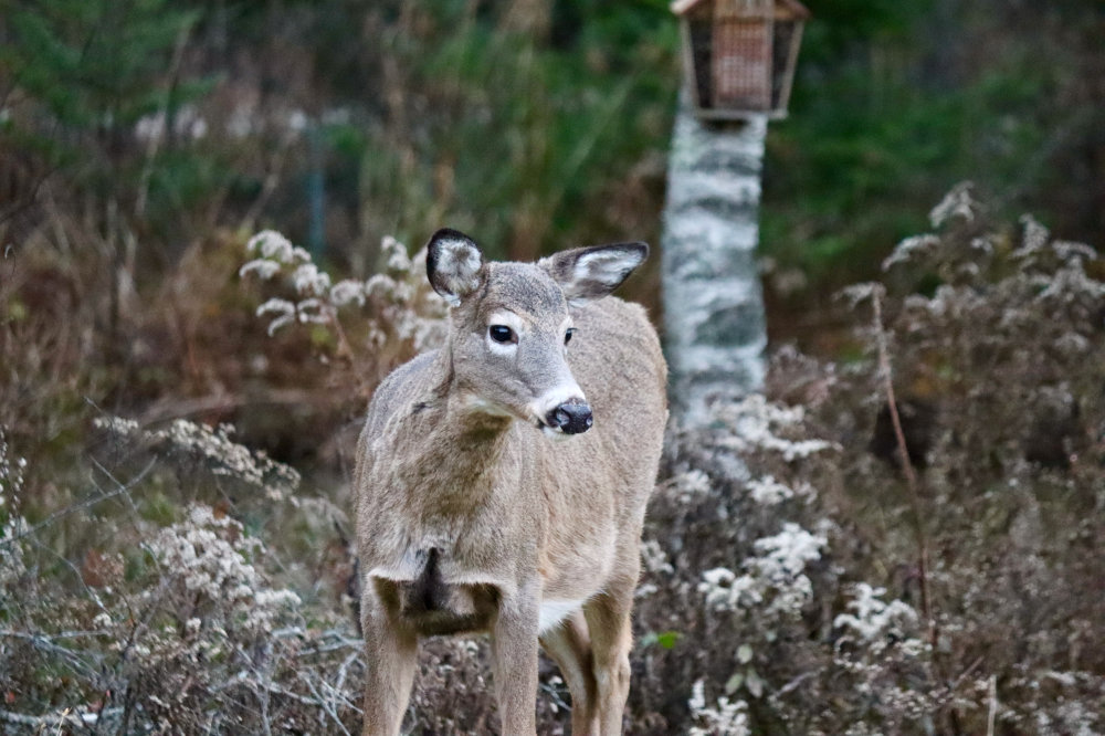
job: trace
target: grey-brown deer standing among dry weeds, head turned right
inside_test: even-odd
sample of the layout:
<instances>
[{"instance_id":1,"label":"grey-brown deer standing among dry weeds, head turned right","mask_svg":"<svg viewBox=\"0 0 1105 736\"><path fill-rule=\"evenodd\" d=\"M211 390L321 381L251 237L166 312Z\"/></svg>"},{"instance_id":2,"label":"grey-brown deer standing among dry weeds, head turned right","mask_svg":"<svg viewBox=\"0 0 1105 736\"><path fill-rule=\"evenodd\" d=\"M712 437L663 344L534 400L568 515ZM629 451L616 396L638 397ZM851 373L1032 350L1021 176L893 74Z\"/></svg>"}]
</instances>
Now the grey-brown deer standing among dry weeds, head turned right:
<instances>
[{"instance_id":1,"label":"grey-brown deer standing among dry weeds, head turned right","mask_svg":"<svg viewBox=\"0 0 1105 736\"><path fill-rule=\"evenodd\" d=\"M421 639L472 633L490 634L501 733L536 734L539 649L572 734L621 733L667 368L644 308L609 294L648 252L427 243L448 335L377 388L354 470L365 736L399 733Z\"/></svg>"}]
</instances>

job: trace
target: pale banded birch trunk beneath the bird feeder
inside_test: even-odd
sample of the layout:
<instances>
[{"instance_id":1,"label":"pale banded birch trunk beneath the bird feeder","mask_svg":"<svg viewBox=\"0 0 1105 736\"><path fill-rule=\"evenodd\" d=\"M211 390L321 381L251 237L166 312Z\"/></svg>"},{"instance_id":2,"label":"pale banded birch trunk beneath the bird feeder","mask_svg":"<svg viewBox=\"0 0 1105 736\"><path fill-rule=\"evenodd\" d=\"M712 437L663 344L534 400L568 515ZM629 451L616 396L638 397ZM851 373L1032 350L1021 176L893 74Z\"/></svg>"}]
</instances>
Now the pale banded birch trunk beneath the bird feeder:
<instances>
[{"instance_id":1,"label":"pale banded birch trunk beneath the bird feeder","mask_svg":"<svg viewBox=\"0 0 1105 736\"><path fill-rule=\"evenodd\" d=\"M767 325L756 264L767 118L704 126L686 90L664 207L664 341L673 410L708 419L718 399L762 387Z\"/></svg>"}]
</instances>

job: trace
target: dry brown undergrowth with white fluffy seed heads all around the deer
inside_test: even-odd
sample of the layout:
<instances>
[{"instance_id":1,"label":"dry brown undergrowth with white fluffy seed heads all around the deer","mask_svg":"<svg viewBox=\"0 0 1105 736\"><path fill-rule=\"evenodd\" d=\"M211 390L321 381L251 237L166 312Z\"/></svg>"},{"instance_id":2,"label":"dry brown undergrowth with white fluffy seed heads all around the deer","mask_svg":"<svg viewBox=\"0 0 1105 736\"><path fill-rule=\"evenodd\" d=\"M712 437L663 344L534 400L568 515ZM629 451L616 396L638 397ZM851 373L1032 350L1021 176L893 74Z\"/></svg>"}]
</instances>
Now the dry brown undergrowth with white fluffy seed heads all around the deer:
<instances>
[{"instance_id":1,"label":"dry brown undergrowth with white fluffy seed heads all around the deer","mask_svg":"<svg viewBox=\"0 0 1105 736\"><path fill-rule=\"evenodd\" d=\"M766 396L670 429L628 733L1105 730L1105 273L1031 218L991 222L966 186L932 219L880 283L842 295L851 359L783 348ZM358 411L440 336L424 255L394 241L367 282L276 233L250 248L236 266L253 328L308 334ZM2 326L6 346L19 330L39 350L18 364L33 383L56 329ZM65 420L87 433L80 461L54 469L30 443L51 423L12 396L7 733L356 733L365 654L340 484L301 479L228 424L87 407ZM482 639L428 642L408 729L495 732L490 680ZM537 707L540 733L566 733L548 662Z\"/></svg>"}]
</instances>

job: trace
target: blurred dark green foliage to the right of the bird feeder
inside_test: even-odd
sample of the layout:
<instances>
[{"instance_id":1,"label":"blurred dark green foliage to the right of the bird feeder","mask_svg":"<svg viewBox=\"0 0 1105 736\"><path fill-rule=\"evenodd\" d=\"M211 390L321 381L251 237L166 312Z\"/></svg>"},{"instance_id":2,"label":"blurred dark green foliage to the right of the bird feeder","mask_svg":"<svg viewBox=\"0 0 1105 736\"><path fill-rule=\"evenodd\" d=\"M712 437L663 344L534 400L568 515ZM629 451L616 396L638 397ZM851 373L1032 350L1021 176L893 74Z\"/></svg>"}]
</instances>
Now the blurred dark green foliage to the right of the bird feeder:
<instances>
[{"instance_id":1,"label":"blurred dark green foliage to the right of the bird feeder","mask_svg":"<svg viewBox=\"0 0 1105 736\"><path fill-rule=\"evenodd\" d=\"M820 292L872 277L886 243L924 227L916 203L962 179L1007 217L1030 209L1101 240L1085 204L1105 194L1098 6L808 4L766 164L762 242L783 269Z\"/></svg>"}]
</instances>

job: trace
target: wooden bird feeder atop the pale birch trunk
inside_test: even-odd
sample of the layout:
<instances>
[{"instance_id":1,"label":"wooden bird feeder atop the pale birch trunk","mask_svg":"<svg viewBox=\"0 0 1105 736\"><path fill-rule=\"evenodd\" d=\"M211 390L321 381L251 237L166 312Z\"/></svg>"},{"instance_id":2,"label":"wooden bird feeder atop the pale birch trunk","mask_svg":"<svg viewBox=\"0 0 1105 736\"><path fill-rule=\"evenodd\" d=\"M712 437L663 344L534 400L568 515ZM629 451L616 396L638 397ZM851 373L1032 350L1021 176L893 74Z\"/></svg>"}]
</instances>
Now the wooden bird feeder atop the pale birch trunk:
<instances>
[{"instance_id":1,"label":"wooden bird feeder atop the pale birch trunk","mask_svg":"<svg viewBox=\"0 0 1105 736\"><path fill-rule=\"evenodd\" d=\"M675 0L695 114L734 120L787 116L802 27L798 0Z\"/></svg>"}]
</instances>

